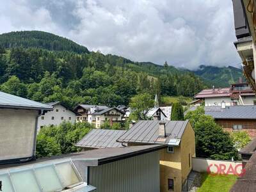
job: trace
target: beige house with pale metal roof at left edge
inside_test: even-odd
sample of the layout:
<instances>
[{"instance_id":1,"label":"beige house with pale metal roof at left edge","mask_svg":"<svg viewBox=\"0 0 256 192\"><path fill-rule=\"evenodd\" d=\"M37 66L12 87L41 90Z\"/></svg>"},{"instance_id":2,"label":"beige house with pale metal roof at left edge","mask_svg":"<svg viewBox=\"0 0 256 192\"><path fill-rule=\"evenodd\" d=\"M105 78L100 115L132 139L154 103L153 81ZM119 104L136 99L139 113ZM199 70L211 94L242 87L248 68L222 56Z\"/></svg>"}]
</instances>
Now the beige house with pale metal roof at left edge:
<instances>
[{"instance_id":1,"label":"beige house with pale metal roof at left edge","mask_svg":"<svg viewBox=\"0 0 256 192\"><path fill-rule=\"evenodd\" d=\"M35 158L38 117L52 107L0 92L0 164Z\"/></svg>"}]
</instances>

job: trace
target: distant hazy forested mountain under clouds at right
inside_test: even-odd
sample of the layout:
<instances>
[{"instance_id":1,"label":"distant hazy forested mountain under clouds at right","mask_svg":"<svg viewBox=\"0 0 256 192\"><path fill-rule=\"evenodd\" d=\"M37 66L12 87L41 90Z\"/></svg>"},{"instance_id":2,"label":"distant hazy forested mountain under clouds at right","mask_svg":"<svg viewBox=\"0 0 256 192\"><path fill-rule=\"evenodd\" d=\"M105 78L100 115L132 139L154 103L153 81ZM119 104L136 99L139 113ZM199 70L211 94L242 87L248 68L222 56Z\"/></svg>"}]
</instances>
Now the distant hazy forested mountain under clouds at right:
<instances>
[{"instance_id":1,"label":"distant hazy forested mountain under clouds at right","mask_svg":"<svg viewBox=\"0 0 256 192\"><path fill-rule=\"evenodd\" d=\"M213 67L200 65L199 69L193 72L205 79L207 84L215 87L228 87L230 83L235 83L239 77L243 77L242 70L232 66Z\"/></svg>"}]
</instances>

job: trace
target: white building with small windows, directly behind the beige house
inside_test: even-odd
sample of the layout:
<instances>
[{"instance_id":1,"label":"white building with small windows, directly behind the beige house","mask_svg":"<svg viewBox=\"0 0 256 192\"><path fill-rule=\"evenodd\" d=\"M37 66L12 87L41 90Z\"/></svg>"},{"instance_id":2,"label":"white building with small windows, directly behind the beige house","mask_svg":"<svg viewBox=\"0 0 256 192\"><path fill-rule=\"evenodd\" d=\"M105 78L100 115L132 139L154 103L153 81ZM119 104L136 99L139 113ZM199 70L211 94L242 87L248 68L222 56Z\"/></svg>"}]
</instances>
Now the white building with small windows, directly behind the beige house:
<instances>
[{"instance_id":1,"label":"white building with small windows, directly behind the beige house","mask_svg":"<svg viewBox=\"0 0 256 192\"><path fill-rule=\"evenodd\" d=\"M64 121L72 123L76 122L76 113L63 106L61 102L49 102L47 105L52 106L53 110L38 118L38 131L40 128L47 125L60 125Z\"/></svg>"}]
</instances>

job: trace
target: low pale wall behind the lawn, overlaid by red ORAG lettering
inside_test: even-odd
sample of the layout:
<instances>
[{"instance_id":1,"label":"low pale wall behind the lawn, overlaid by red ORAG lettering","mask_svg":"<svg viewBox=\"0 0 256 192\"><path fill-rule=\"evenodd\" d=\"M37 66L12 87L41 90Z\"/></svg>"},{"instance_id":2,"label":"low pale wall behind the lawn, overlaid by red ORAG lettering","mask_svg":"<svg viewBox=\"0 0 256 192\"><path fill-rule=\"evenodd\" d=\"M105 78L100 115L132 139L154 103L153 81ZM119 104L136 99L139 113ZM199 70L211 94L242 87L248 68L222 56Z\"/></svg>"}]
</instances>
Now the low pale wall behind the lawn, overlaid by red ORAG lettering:
<instances>
[{"instance_id":1,"label":"low pale wall behind the lawn, overlaid by red ORAG lettering","mask_svg":"<svg viewBox=\"0 0 256 192\"><path fill-rule=\"evenodd\" d=\"M221 167L223 172L229 173L229 174L231 174L230 172L228 172L228 168L230 166L232 166L232 168L234 169L237 167L236 170L238 174L240 174L242 170L241 161L218 161L218 160L212 160L212 159L193 157L192 165L193 165L193 170L196 172L207 172L207 169L209 168L209 166L210 166L211 172L214 172L214 173L218 173L217 167ZM219 173L220 173L220 170L219 170Z\"/></svg>"}]
</instances>

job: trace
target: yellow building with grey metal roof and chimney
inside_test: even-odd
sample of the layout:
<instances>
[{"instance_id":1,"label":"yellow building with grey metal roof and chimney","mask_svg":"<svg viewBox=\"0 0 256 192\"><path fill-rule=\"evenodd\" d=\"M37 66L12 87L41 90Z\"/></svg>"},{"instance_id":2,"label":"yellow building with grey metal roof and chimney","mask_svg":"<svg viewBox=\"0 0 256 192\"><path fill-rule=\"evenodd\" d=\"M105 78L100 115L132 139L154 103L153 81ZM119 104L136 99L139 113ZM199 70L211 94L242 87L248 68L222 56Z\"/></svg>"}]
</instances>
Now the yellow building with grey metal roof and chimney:
<instances>
[{"instance_id":1,"label":"yellow building with grey metal roof and chimney","mask_svg":"<svg viewBox=\"0 0 256 192\"><path fill-rule=\"evenodd\" d=\"M132 145L168 145L161 150L161 192L182 191L195 157L195 132L188 120L141 120L122 134L118 142Z\"/></svg>"}]
</instances>

